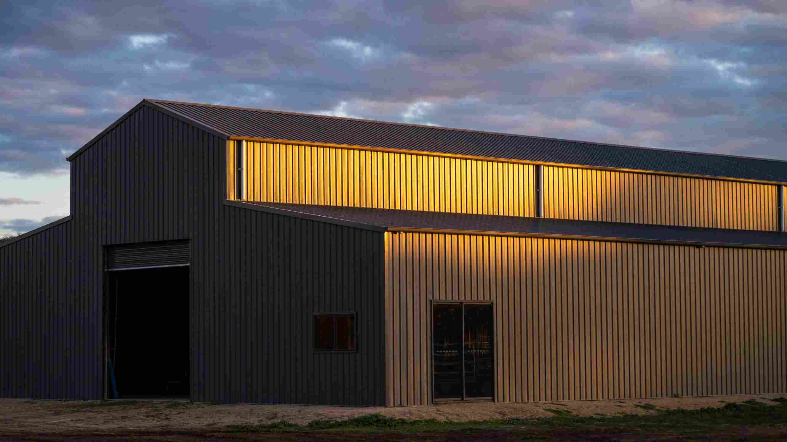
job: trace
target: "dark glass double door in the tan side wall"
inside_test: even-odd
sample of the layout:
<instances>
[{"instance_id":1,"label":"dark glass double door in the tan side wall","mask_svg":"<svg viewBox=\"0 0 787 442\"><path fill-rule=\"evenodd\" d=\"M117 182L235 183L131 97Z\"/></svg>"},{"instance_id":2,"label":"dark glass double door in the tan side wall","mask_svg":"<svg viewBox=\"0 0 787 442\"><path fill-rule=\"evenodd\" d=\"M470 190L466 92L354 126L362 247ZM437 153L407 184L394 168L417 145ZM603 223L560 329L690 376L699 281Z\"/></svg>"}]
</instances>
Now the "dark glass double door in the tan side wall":
<instances>
[{"instance_id":1,"label":"dark glass double door in the tan side wall","mask_svg":"<svg viewBox=\"0 0 787 442\"><path fill-rule=\"evenodd\" d=\"M434 304L434 400L493 398L492 320L492 304Z\"/></svg>"}]
</instances>

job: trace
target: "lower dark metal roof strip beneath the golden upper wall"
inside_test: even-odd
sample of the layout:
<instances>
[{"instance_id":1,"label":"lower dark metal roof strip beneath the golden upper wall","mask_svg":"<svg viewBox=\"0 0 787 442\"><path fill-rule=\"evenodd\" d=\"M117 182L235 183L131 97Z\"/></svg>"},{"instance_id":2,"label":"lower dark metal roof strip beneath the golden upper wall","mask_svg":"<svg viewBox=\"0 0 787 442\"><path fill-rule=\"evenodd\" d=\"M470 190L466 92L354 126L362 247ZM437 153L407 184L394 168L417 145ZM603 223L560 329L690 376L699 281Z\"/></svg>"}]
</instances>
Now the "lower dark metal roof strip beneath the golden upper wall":
<instances>
[{"instance_id":1,"label":"lower dark metal roof strip beneath the golden upper wall","mask_svg":"<svg viewBox=\"0 0 787 442\"><path fill-rule=\"evenodd\" d=\"M708 245L787 249L787 234L759 230L708 229L603 223L571 219L420 212L382 208L354 208L311 204L227 201L227 204L378 231L531 236L541 238L630 241L672 245Z\"/></svg>"}]
</instances>

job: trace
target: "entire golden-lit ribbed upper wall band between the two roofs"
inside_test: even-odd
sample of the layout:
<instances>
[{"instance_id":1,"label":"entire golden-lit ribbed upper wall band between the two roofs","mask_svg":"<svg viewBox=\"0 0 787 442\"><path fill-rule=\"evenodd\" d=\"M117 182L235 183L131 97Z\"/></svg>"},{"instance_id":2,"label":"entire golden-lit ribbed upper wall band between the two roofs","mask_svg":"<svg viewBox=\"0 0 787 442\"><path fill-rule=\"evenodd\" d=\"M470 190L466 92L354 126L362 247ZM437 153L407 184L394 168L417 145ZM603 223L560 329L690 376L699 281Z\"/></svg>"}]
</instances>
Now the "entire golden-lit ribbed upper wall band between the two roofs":
<instances>
[{"instance_id":1,"label":"entire golden-lit ribbed upper wall band between the two roofs","mask_svg":"<svg viewBox=\"0 0 787 442\"><path fill-rule=\"evenodd\" d=\"M227 194L235 155L227 147ZM246 142L246 199L535 216L536 168L484 160ZM777 186L542 167L543 215L668 226L778 230Z\"/></svg>"}]
</instances>

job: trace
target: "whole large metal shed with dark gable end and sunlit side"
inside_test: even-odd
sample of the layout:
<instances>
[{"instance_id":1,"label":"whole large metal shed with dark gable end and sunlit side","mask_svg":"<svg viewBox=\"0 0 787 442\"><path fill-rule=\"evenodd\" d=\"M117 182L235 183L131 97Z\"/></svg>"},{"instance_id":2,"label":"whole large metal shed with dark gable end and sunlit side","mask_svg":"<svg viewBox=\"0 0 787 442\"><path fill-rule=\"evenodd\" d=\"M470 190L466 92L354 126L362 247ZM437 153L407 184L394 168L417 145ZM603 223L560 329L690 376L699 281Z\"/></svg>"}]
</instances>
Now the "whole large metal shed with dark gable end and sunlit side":
<instances>
[{"instance_id":1,"label":"whole large metal shed with dark gable end and sunlit side","mask_svg":"<svg viewBox=\"0 0 787 442\"><path fill-rule=\"evenodd\" d=\"M158 100L68 160L0 396L785 392L783 161Z\"/></svg>"}]
</instances>

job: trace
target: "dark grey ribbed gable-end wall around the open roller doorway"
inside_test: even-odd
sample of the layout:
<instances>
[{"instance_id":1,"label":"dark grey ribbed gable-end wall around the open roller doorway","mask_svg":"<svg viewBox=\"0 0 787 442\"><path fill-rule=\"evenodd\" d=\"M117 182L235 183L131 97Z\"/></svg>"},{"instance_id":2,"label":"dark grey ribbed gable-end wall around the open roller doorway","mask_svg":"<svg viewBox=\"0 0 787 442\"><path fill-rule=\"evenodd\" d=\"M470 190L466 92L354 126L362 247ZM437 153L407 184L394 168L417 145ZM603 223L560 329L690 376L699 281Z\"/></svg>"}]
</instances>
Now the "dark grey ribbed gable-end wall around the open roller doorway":
<instances>
[{"instance_id":1,"label":"dark grey ribbed gable-end wall around the open roller doorway","mask_svg":"<svg viewBox=\"0 0 787 442\"><path fill-rule=\"evenodd\" d=\"M142 105L72 160L72 220L0 247L0 329L10 343L0 396L101 398L104 246L190 239L193 400L382 403L382 389L365 388L382 384L365 377L382 376L373 365L382 367L382 353L371 351L382 337L368 333L357 354L316 359L296 333L303 323L286 316L296 319L296 300L308 310L307 299L322 298L374 315L381 282L349 275L379 274L382 261L369 256L382 256L380 234L224 205L226 143ZM304 285L312 274L320 285ZM379 324L382 307L377 314ZM296 394L297 382L316 391Z\"/></svg>"}]
</instances>

